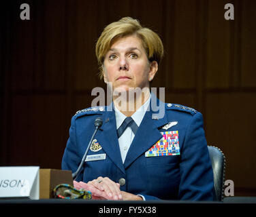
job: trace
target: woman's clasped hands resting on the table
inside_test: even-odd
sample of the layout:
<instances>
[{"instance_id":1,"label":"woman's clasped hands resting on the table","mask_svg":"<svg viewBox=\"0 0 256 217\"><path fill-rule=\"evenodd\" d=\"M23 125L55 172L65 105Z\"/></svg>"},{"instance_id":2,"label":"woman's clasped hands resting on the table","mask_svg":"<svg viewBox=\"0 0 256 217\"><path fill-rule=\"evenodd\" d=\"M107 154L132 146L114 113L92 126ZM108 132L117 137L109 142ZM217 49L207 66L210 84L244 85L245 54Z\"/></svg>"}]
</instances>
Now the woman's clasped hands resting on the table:
<instances>
[{"instance_id":1,"label":"woman's clasped hands resting on the table","mask_svg":"<svg viewBox=\"0 0 256 217\"><path fill-rule=\"evenodd\" d=\"M108 199L108 200L142 200L142 197L127 193L120 190L120 184L113 182L108 177L99 176L97 179L90 182L76 182L76 189L84 189L91 191L93 199Z\"/></svg>"}]
</instances>

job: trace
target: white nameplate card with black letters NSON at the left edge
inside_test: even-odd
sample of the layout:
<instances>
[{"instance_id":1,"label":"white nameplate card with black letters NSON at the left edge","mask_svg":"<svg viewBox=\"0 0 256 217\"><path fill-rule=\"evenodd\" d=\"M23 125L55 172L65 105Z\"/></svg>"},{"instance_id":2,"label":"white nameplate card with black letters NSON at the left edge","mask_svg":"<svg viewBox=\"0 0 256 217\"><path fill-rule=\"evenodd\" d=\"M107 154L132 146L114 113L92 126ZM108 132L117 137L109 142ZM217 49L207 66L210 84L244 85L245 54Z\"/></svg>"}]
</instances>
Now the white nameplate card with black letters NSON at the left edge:
<instances>
[{"instance_id":1,"label":"white nameplate card with black letters NSON at the left edge","mask_svg":"<svg viewBox=\"0 0 256 217\"><path fill-rule=\"evenodd\" d=\"M0 167L0 198L39 199L39 167Z\"/></svg>"}]
</instances>

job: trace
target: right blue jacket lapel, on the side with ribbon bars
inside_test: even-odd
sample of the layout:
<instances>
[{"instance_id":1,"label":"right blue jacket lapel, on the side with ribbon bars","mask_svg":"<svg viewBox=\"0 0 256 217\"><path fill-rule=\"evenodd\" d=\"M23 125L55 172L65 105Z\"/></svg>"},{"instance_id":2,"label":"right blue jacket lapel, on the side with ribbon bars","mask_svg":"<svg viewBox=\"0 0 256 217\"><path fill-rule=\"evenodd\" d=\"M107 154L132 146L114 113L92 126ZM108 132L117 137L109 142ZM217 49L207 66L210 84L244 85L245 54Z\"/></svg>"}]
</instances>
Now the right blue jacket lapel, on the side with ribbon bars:
<instances>
[{"instance_id":1,"label":"right blue jacket lapel, on the side with ribbon bars","mask_svg":"<svg viewBox=\"0 0 256 217\"><path fill-rule=\"evenodd\" d=\"M140 123L140 127L133 138L133 142L131 143L125 158L125 169L163 137L159 132L158 127L168 123L167 115L164 113L164 116L161 119L155 117L157 117L157 114L151 109L145 113L142 123Z\"/></svg>"}]
</instances>

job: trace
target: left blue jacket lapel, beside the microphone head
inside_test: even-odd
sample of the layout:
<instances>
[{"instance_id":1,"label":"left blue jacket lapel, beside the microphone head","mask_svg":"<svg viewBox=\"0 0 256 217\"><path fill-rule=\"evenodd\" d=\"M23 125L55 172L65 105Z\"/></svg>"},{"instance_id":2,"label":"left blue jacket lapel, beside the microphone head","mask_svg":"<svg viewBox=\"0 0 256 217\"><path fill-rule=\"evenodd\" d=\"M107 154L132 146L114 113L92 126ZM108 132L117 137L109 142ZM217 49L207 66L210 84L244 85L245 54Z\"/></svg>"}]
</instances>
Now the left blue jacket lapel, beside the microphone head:
<instances>
[{"instance_id":1,"label":"left blue jacket lapel, beside the microphone head","mask_svg":"<svg viewBox=\"0 0 256 217\"><path fill-rule=\"evenodd\" d=\"M108 108L110 107L108 106ZM123 167L116 134L116 117L114 115L114 110L105 111L102 118L103 125L99 130L97 140L99 140L99 144L101 144L102 149L106 151L108 157L110 157L114 164L116 164L116 166L125 174L125 168Z\"/></svg>"}]
</instances>

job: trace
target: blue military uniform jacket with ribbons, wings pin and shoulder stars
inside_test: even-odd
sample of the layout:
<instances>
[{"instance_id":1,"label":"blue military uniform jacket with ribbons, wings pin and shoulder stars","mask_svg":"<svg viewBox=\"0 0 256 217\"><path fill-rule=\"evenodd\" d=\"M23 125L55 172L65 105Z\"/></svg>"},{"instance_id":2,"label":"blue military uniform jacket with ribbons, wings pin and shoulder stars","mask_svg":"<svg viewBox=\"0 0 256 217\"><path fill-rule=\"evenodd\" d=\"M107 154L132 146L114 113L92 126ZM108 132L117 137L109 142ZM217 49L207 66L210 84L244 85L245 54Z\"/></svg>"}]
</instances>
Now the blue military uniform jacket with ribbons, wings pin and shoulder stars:
<instances>
[{"instance_id":1,"label":"blue military uniform jacket with ribbons, wings pin and shoulder stars","mask_svg":"<svg viewBox=\"0 0 256 217\"><path fill-rule=\"evenodd\" d=\"M121 191L143 195L146 200L213 200L212 165L202 114L179 104L164 104L164 108L159 119L152 109L146 111L124 163L114 110L108 111L106 106L78 111L71 119L62 169L76 172L100 116L103 125L95 139L101 149L89 149L87 156L106 154L106 158L86 161L77 181L108 177L121 183Z\"/></svg>"}]
</instances>

